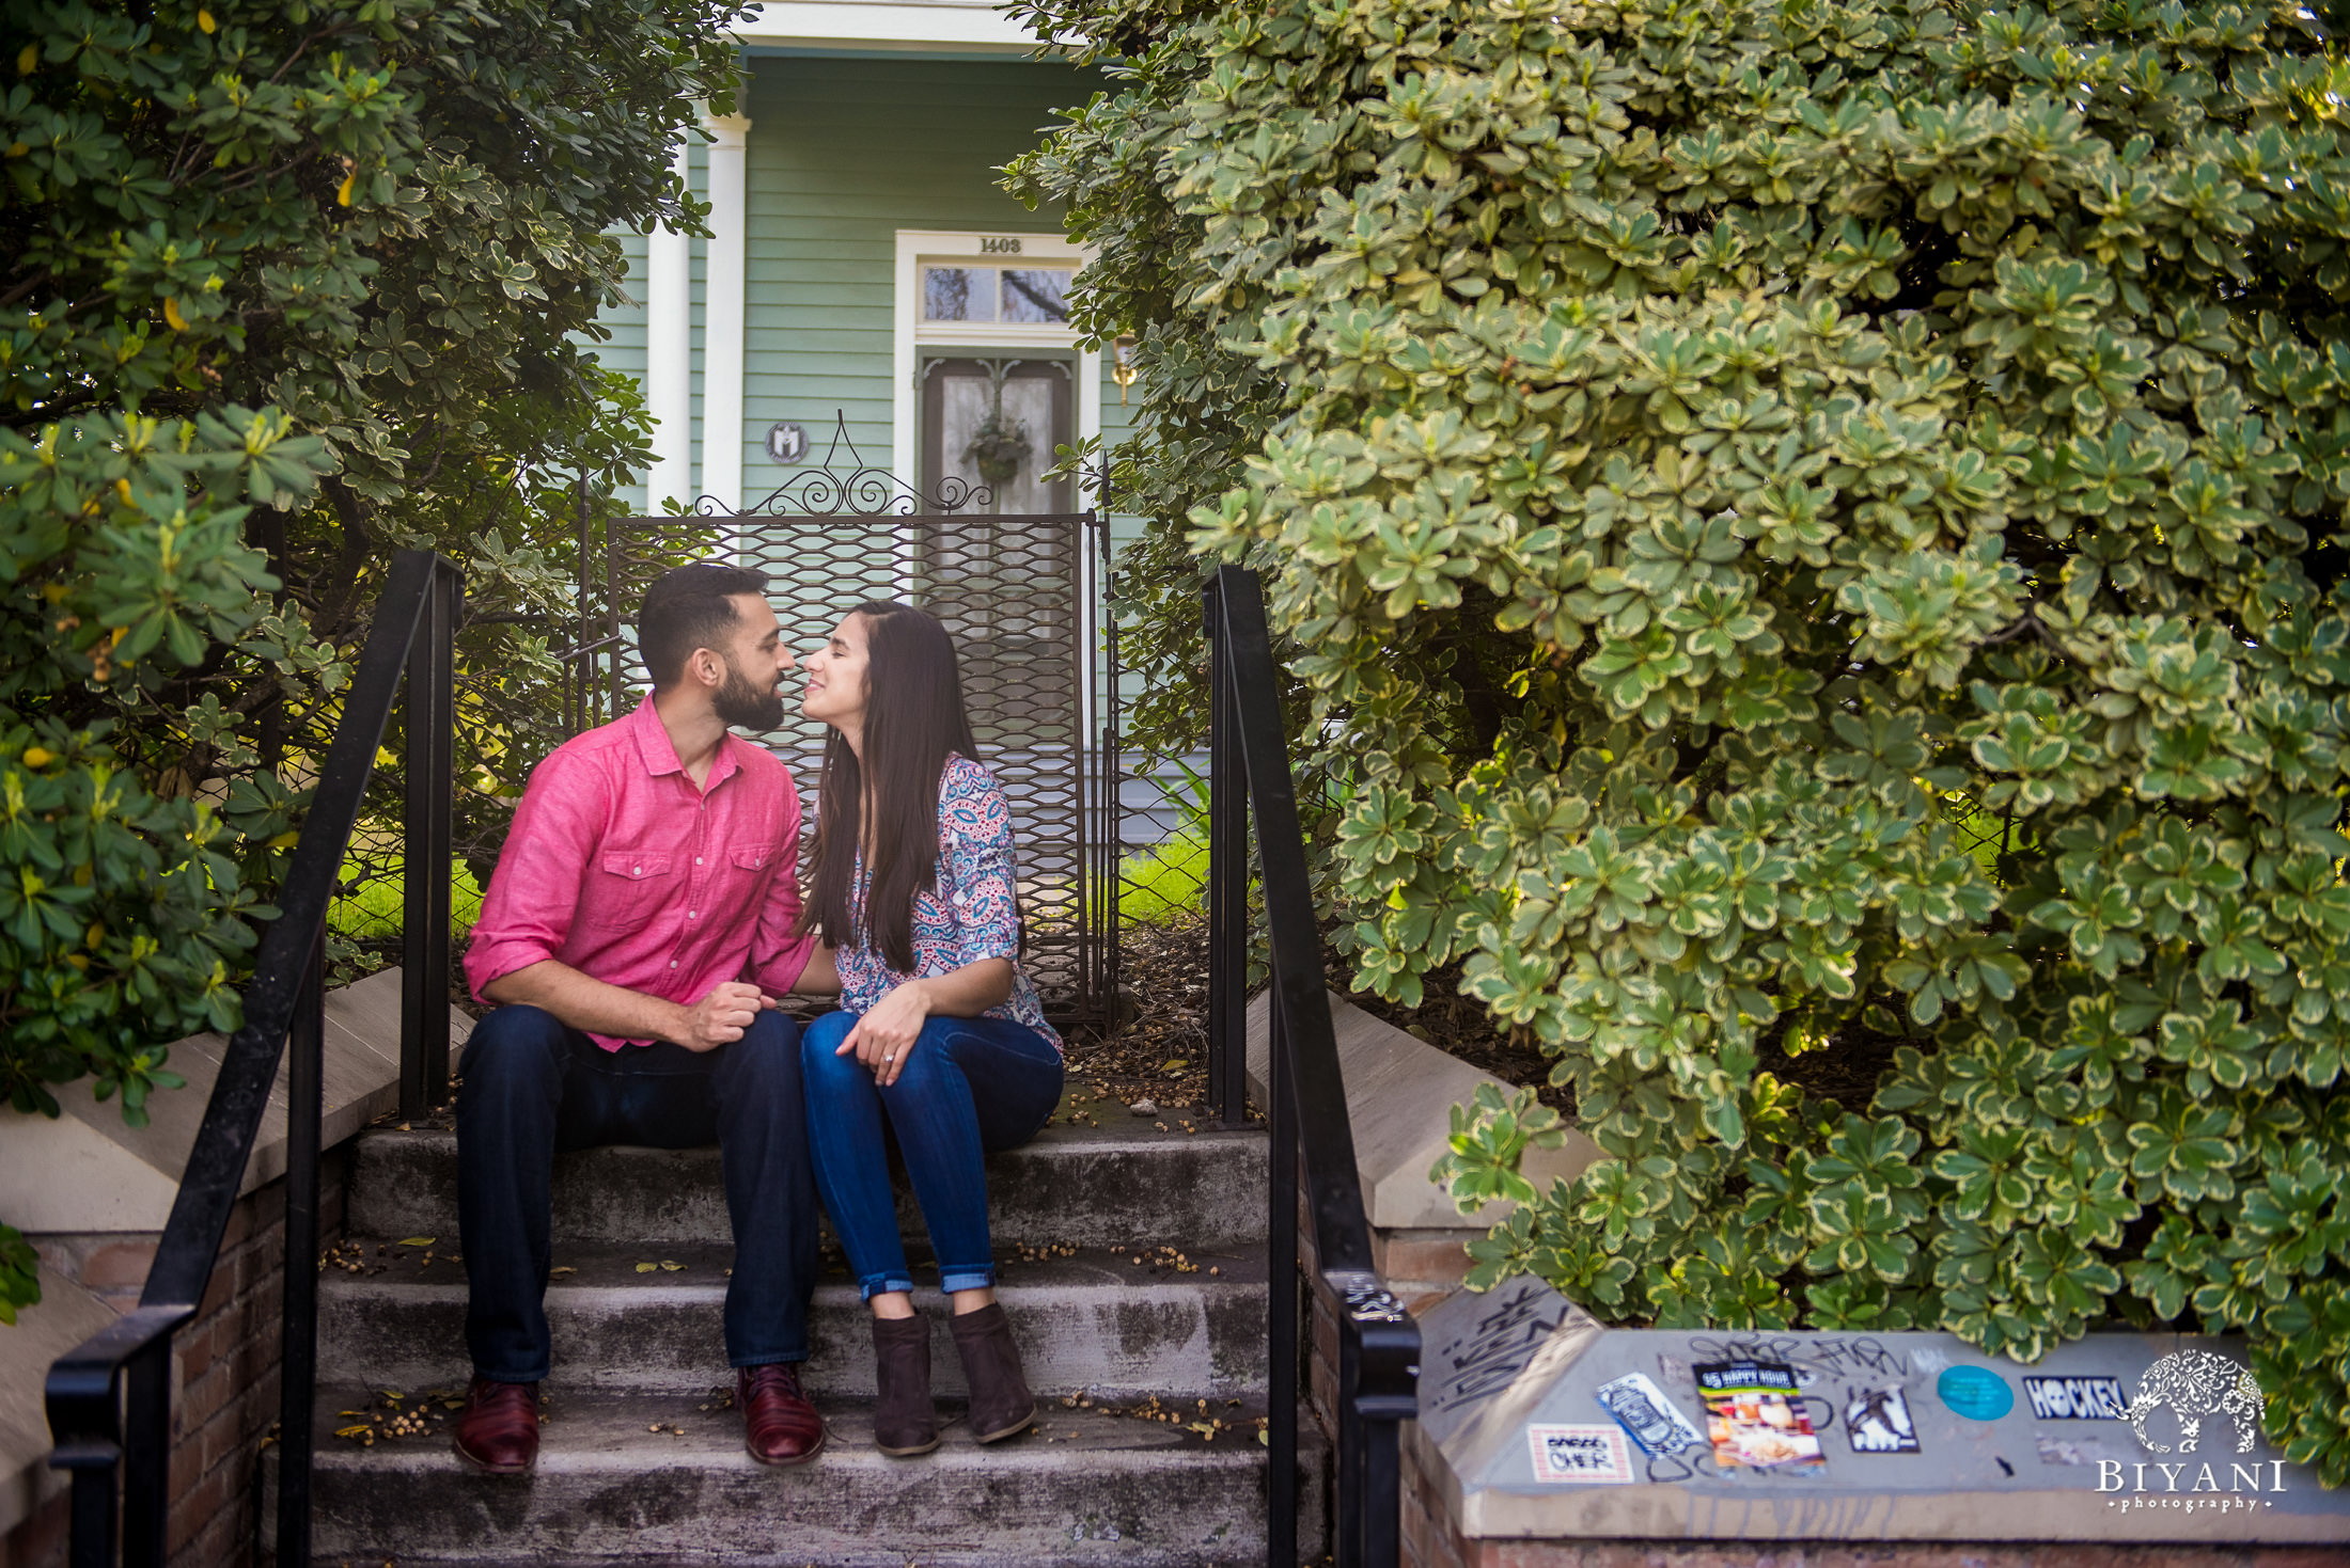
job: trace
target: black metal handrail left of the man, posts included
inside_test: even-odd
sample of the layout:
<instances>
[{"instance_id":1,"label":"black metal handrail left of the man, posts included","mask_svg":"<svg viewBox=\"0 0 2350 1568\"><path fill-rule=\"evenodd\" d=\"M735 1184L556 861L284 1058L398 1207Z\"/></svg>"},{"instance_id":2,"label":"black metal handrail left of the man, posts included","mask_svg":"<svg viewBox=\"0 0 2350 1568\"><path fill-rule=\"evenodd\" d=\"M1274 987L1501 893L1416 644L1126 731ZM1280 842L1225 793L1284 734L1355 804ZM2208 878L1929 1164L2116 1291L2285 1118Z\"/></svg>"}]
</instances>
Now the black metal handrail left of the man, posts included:
<instances>
[{"instance_id":1,"label":"black metal handrail left of the man, posts included","mask_svg":"<svg viewBox=\"0 0 2350 1568\"><path fill-rule=\"evenodd\" d=\"M407 953L400 995L400 1113L449 1094L449 756L456 721L458 568L392 556L390 584L327 746L317 791L244 986L244 1026L221 1056L204 1122L172 1202L139 1305L49 1364L49 1465L73 1472L75 1568L162 1568L172 1486L172 1333L195 1317L244 1164L261 1134L280 1049L287 1063L284 1368L280 1383L277 1561L310 1561L310 1406L317 1383L317 1167L324 1120L324 932L343 857L407 681ZM428 869L439 869L428 873Z\"/></svg>"}]
</instances>

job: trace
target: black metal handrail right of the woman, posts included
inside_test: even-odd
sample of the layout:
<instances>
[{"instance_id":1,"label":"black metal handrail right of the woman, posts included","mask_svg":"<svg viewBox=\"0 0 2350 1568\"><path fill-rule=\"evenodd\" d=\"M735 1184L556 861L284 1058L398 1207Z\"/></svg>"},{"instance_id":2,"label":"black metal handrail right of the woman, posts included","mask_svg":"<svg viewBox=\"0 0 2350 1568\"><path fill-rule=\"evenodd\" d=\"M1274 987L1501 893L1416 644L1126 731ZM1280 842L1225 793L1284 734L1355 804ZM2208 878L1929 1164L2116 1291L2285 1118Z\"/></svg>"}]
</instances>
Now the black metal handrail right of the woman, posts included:
<instances>
[{"instance_id":1,"label":"black metal handrail right of the woman, posts included","mask_svg":"<svg viewBox=\"0 0 2350 1568\"><path fill-rule=\"evenodd\" d=\"M1208 704L1208 1099L1222 1122L1246 1110L1248 815L1271 937L1267 1115L1271 1120L1271 1411L1267 1556L1297 1561L1297 1183L1314 1223L1314 1284L1337 1314L1340 1568L1394 1568L1401 1547L1401 1425L1419 1413L1419 1324L1379 1284L1370 1253L1354 1124L1330 1026L1321 922L1307 880L1297 784L1281 718L1264 592L1224 566L1206 589ZM1246 793L1243 793L1246 786Z\"/></svg>"}]
</instances>

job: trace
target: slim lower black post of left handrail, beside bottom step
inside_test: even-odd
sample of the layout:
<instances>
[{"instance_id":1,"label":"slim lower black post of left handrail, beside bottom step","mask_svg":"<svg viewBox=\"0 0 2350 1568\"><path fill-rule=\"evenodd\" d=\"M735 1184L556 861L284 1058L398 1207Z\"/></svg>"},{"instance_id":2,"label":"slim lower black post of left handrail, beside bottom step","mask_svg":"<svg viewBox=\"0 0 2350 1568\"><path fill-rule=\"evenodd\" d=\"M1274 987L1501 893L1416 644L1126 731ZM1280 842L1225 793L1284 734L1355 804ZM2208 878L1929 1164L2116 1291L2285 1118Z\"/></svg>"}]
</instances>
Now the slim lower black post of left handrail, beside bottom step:
<instances>
[{"instance_id":1,"label":"slim lower black post of left handrail, beside bottom step","mask_svg":"<svg viewBox=\"0 0 2350 1568\"><path fill-rule=\"evenodd\" d=\"M414 861L409 876L416 876ZM446 1016L446 1007L442 1009ZM327 953L310 948L308 976L287 1026L287 1279L277 1383L277 1563L310 1563L310 1444L317 1399L317 1164L327 1096Z\"/></svg>"}]
</instances>

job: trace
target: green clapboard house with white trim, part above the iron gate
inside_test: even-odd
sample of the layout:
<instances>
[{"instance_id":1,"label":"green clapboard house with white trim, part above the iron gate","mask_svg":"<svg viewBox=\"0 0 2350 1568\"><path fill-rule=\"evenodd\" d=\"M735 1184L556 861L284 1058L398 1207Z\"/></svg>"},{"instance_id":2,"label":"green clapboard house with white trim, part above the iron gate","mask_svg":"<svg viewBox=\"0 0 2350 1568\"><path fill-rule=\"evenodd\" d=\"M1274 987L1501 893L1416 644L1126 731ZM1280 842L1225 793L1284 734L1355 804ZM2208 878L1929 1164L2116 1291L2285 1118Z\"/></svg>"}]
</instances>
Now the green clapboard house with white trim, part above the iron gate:
<instances>
[{"instance_id":1,"label":"green clapboard house with white trim, part above the iron gate","mask_svg":"<svg viewBox=\"0 0 2350 1568\"><path fill-rule=\"evenodd\" d=\"M1032 455L994 509L1093 505L1036 479L1058 441L1121 432L1109 366L1067 326L1083 256L996 181L1100 77L1034 59L985 0L773 0L738 35L738 113L679 148L712 237L630 235L634 303L599 345L660 420L630 500L752 507L825 462L837 415L924 493L978 484L971 439L999 411Z\"/></svg>"}]
</instances>

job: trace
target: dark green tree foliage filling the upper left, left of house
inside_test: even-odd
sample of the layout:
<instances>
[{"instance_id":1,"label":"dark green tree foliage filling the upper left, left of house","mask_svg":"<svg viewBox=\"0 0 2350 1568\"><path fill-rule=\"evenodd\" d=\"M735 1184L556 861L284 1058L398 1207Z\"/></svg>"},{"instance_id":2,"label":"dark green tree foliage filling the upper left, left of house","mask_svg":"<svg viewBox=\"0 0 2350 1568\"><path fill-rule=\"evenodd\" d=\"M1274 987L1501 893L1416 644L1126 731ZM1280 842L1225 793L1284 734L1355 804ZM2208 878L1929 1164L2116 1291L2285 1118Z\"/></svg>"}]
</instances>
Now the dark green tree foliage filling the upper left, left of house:
<instances>
[{"instance_id":1,"label":"dark green tree foliage filling the upper left, left of house","mask_svg":"<svg viewBox=\"0 0 2350 1568\"><path fill-rule=\"evenodd\" d=\"M0 2L16 1108L94 1075L136 1120L157 1042L237 1021L392 549L468 568L465 779L555 739L576 507L646 458L583 338L611 230L698 221L670 146L736 9Z\"/></svg>"}]
</instances>

